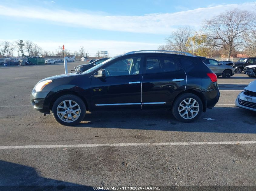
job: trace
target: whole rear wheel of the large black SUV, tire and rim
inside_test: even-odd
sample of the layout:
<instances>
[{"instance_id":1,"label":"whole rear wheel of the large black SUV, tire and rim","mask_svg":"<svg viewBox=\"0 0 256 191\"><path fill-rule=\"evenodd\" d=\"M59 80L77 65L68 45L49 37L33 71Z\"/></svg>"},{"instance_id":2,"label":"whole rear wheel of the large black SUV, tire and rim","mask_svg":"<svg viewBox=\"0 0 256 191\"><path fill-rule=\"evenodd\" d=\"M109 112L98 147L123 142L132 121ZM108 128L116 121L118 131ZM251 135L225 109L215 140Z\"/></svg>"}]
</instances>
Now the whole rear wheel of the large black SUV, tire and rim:
<instances>
[{"instance_id":1,"label":"whole rear wheel of the large black SUV, tire and rim","mask_svg":"<svg viewBox=\"0 0 256 191\"><path fill-rule=\"evenodd\" d=\"M191 93L181 94L172 105L173 116L181 122L189 123L200 117L203 109L201 99Z\"/></svg>"}]
</instances>

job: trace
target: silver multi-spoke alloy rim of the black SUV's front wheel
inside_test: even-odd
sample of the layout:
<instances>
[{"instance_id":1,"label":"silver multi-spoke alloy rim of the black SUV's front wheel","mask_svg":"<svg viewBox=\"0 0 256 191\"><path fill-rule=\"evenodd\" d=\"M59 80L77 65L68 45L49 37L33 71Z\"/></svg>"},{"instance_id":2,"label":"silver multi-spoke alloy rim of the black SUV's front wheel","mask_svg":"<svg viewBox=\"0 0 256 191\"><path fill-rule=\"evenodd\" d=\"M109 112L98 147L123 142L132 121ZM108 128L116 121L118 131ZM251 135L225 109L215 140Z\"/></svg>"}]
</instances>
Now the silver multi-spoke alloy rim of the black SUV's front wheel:
<instances>
[{"instance_id":1,"label":"silver multi-spoke alloy rim of the black SUV's front wheel","mask_svg":"<svg viewBox=\"0 0 256 191\"><path fill-rule=\"evenodd\" d=\"M57 116L66 123L74 122L79 118L81 108L73 100L64 100L57 107Z\"/></svg>"}]
</instances>

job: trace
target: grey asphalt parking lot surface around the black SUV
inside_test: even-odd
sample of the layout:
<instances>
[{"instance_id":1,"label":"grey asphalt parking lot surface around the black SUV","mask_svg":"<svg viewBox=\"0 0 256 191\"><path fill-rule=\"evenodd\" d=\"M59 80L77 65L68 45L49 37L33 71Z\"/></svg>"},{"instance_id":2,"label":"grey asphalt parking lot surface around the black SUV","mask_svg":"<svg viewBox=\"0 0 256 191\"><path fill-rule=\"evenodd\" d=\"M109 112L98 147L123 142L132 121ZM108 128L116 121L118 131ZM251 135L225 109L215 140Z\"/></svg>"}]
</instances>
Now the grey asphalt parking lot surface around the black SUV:
<instances>
[{"instance_id":1,"label":"grey asphalt parking lot surface around the black SUV","mask_svg":"<svg viewBox=\"0 0 256 191\"><path fill-rule=\"evenodd\" d=\"M29 106L35 84L62 73L63 64L0 68L0 186L256 186L256 112L234 107L256 78L220 77L219 102L194 123L111 111L67 127Z\"/></svg>"}]
</instances>

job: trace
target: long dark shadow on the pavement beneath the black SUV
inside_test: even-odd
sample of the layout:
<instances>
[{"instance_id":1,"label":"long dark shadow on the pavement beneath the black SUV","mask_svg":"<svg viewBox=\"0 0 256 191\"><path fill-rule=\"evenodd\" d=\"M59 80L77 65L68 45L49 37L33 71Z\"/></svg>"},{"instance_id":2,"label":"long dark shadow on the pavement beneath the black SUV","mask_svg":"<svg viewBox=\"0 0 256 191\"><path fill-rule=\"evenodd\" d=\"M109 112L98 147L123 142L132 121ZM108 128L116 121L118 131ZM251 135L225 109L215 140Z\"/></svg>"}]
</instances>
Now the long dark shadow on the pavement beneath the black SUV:
<instances>
[{"instance_id":1,"label":"long dark shadow on the pavement beneath the black SUV","mask_svg":"<svg viewBox=\"0 0 256 191\"><path fill-rule=\"evenodd\" d=\"M214 107L192 123L181 123L170 111L105 111L87 113L75 127L184 132L256 133L256 112L238 107Z\"/></svg>"}]
</instances>

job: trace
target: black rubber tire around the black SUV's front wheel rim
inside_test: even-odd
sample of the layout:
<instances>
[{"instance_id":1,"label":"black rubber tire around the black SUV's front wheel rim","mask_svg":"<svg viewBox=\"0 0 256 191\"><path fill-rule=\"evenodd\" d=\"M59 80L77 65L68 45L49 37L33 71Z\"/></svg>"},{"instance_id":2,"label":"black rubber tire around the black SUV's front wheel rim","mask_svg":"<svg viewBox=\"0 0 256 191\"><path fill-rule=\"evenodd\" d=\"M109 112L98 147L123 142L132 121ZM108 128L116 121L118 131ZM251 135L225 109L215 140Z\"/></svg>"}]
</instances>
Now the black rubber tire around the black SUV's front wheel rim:
<instances>
[{"instance_id":1,"label":"black rubber tire around the black SUV's front wheel rim","mask_svg":"<svg viewBox=\"0 0 256 191\"><path fill-rule=\"evenodd\" d=\"M73 122L65 122L65 121L62 121L62 119L60 119L60 117L58 116L58 114L57 114L57 109L58 109L58 106L59 106L59 104L61 104L63 101L65 101L65 100L72 100L73 102L75 102L75 103L77 103L78 104L78 106L76 106L76 108L77 107L79 107L80 108L80 115L79 115L79 117L77 118L77 119L75 119L75 121L73 121ZM67 104L67 103L66 103ZM70 106L68 106L68 104L67 104L67 107L70 107ZM71 110L69 110L69 108L67 108L68 110L66 111L65 109L63 109L65 112L72 112L72 110L73 110L73 108L71 107ZM65 126L75 126L75 125L77 125L78 123L80 123L83 119L84 119L84 117L85 117L85 113L86 113L86 107L85 107L85 103L84 103L84 101L83 100L81 100L81 98L80 97L78 97L78 96L75 96L75 95L72 95L72 94L67 94L67 95L63 95L63 96L61 96L61 97L59 97L55 102L54 102L54 104L53 104L53 106L52 106L52 115L53 115L53 117L54 117L54 119L58 122L58 123L60 123L60 124L62 124L62 125L65 125ZM65 115L68 115L68 114L71 114L71 116L72 116L72 113L67 113L67 114L65 114ZM73 113L74 114L74 113ZM66 117L66 118L65 118ZM67 119L68 117L67 116L64 116L63 117L64 119ZM69 119L70 119L71 117L69 117ZM68 120L69 120L68 119ZM74 118L73 118L74 119Z\"/></svg>"}]
</instances>

